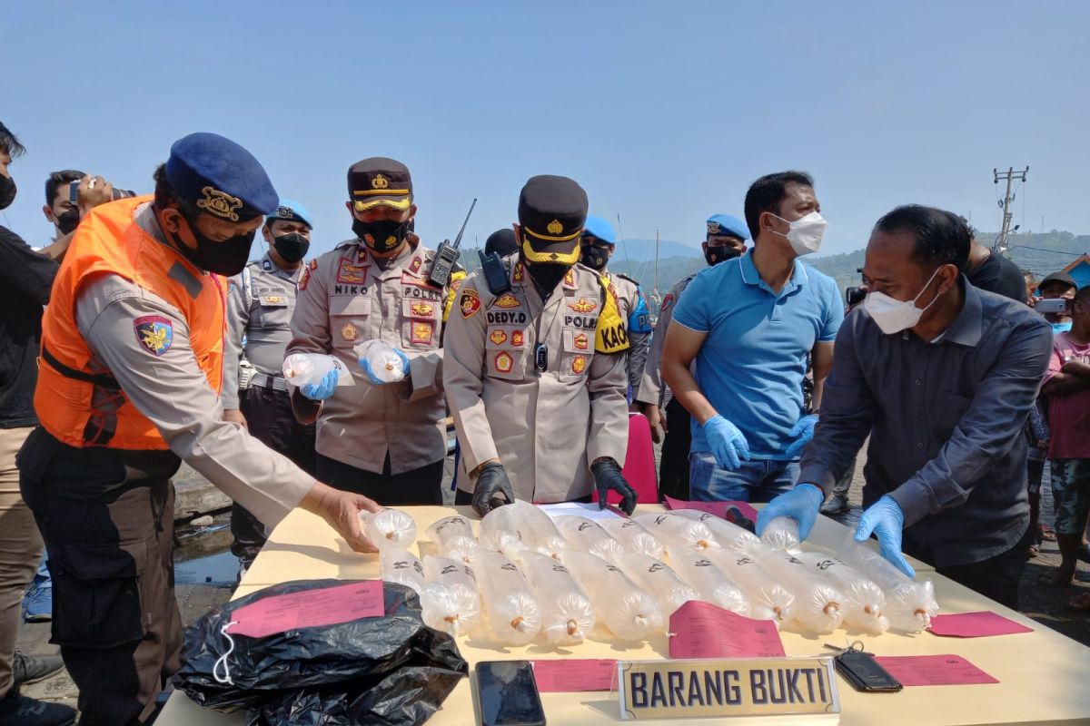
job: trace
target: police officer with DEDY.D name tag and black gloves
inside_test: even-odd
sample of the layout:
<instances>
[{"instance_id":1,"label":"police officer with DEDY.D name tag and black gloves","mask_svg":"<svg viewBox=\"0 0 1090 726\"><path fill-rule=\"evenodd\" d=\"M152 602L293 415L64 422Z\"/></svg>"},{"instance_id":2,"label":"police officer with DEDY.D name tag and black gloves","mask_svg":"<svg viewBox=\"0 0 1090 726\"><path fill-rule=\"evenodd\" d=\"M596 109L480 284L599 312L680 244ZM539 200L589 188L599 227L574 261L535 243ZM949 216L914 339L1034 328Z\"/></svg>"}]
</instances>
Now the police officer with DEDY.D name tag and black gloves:
<instances>
[{"instance_id":1,"label":"police officer with DEDY.D name tag and black gloves","mask_svg":"<svg viewBox=\"0 0 1090 726\"><path fill-rule=\"evenodd\" d=\"M461 448L456 503L482 516L518 497L566 502L635 492L628 446L623 320L616 292L577 264L586 193L534 176L519 198L504 288L479 270L451 312L443 379Z\"/></svg>"}]
</instances>

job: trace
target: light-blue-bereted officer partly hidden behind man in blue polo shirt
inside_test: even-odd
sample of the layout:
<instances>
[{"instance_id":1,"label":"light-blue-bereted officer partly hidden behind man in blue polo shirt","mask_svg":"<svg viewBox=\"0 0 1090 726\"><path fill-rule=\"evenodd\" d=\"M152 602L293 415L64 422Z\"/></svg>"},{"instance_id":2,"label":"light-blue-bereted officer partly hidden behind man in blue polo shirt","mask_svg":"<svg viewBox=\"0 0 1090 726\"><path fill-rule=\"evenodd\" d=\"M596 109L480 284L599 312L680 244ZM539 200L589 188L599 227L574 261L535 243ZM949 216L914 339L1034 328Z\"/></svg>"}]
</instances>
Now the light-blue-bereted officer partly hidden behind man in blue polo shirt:
<instances>
[{"instance_id":1,"label":"light-blue-bereted officer partly hidden behind man in blue polo shirt","mask_svg":"<svg viewBox=\"0 0 1090 726\"><path fill-rule=\"evenodd\" d=\"M746 251L746 241L749 238L746 222L730 214L713 214L707 218L706 224L707 233L701 248L708 267L739 257ZM644 416L651 421L651 435L656 442L662 440L663 443L658 462L658 491L680 500L689 499L689 445L692 443L692 432L689 430L689 411L674 399L669 387L664 385L659 365L663 360L663 345L666 343L666 329L674 318L674 304L695 276L693 273L679 281L663 298L643 368L643 380L635 396ZM659 427L663 428L665 438L658 432Z\"/></svg>"}]
</instances>

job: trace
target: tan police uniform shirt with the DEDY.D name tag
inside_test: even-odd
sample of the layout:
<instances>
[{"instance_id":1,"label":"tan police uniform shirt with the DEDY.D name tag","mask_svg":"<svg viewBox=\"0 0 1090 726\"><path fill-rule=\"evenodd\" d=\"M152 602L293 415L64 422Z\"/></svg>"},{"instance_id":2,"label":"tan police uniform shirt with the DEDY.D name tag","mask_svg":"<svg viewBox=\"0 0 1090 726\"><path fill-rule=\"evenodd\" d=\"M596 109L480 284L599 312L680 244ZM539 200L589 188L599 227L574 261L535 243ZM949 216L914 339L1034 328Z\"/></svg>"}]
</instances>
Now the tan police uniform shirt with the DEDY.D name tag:
<instances>
[{"instance_id":1,"label":"tan police uniform shirt with the DEDY.D name tag","mask_svg":"<svg viewBox=\"0 0 1090 726\"><path fill-rule=\"evenodd\" d=\"M506 263L510 292L493 295L474 272L450 313L443 376L461 445L458 488L472 492L469 472L498 458L520 500L586 496L590 463L623 465L628 447L625 354L595 352L600 278L576 264L543 302L518 255Z\"/></svg>"}]
</instances>

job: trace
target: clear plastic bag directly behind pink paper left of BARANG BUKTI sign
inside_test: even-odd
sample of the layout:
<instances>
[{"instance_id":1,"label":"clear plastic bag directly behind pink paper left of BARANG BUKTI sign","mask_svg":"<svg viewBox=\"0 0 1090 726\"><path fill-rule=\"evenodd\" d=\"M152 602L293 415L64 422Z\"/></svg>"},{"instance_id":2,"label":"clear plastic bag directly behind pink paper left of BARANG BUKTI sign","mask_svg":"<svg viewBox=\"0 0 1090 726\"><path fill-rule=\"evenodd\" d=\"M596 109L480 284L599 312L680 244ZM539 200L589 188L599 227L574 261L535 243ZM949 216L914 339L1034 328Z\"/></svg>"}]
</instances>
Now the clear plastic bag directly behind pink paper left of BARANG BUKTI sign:
<instances>
[{"instance_id":1,"label":"clear plastic bag directly behind pink paper left of BARANG BUKTI sign","mask_svg":"<svg viewBox=\"0 0 1090 726\"><path fill-rule=\"evenodd\" d=\"M531 505L532 506L532 505ZM526 550L522 567L542 608L542 632L554 645L576 645L594 628L594 606L558 559Z\"/></svg>"}]
</instances>

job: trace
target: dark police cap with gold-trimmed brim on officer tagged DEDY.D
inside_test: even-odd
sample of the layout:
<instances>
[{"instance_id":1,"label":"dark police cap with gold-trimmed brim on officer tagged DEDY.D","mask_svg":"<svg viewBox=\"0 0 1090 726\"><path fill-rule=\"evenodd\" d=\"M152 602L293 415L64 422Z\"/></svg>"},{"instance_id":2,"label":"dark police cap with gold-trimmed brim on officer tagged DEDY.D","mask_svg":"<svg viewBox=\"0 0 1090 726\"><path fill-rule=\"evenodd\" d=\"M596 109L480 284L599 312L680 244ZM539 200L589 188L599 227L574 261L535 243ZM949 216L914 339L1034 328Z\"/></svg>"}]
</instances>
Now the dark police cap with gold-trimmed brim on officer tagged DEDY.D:
<instances>
[{"instance_id":1,"label":"dark police cap with gold-trimmed brim on officer tagged DEDY.D","mask_svg":"<svg viewBox=\"0 0 1090 726\"><path fill-rule=\"evenodd\" d=\"M586 222L586 192L567 176L533 176L519 195L519 226L531 262L574 264Z\"/></svg>"}]
</instances>

